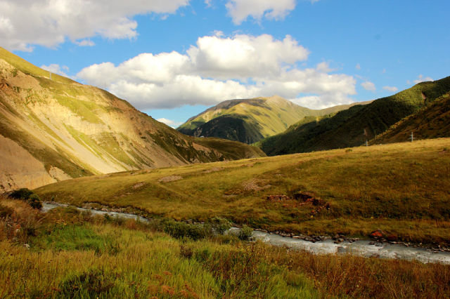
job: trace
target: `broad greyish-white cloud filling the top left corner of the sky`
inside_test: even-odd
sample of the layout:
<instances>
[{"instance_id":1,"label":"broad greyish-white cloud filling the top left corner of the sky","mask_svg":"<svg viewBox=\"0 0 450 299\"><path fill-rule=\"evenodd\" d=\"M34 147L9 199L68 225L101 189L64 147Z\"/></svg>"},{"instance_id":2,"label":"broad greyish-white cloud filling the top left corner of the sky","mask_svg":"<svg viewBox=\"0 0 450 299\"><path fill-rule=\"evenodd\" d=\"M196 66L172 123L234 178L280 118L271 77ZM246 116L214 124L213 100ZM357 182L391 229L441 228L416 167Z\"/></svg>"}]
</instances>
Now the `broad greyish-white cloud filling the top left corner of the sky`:
<instances>
[{"instance_id":1,"label":"broad greyish-white cloud filling the top left corner of the sky","mask_svg":"<svg viewBox=\"0 0 450 299\"><path fill-rule=\"evenodd\" d=\"M54 47L66 39L83 46L92 36L130 39L137 35L134 15L175 13L189 1L0 0L0 44L32 51L32 45Z\"/></svg>"}]
</instances>

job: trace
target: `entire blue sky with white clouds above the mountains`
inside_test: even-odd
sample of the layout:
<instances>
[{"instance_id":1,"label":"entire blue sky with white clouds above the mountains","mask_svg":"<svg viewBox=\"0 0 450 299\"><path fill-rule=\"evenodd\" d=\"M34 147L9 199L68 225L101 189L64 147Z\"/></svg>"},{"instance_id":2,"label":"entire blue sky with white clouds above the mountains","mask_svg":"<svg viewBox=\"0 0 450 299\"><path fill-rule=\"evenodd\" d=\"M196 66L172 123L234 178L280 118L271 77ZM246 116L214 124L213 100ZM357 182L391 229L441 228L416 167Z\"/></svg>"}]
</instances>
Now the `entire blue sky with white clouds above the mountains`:
<instances>
[{"instance_id":1,"label":"entire blue sky with white clouds above the mountains","mask_svg":"<svg viewBox=\"0 0 450 299\"><path fill-rule=\"evenodd\" d=\"M321 109L450 75L449 0L0 0L0 46L176 127L234 98Z\"/></svg>"}]
</instances>

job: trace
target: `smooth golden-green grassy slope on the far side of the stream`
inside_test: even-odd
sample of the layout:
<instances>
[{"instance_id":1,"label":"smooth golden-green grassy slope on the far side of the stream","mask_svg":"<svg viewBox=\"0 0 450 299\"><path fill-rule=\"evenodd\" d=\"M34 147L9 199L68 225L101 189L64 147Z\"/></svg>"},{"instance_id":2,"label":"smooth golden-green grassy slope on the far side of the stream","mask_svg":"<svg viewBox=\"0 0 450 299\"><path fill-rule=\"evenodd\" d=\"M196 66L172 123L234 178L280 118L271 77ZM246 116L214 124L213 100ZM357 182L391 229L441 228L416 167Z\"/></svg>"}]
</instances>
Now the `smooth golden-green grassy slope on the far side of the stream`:
<instances>
[{"instance_id":1,"label":"smooth golden-green grassy slope on the far side of the stream","mask_svg":"<svg viewBox=\"0 0 450 299\"><path fill-rule=\"evenodd\" d=\"M41 187L42 199L135 208L149 217L448 244L450 139L113 173ZM309 192L319 206L293 196ZM290 199L269 201L269 195ZM324 208L329 204L329 208ZM321 208L322 207L322 208Z\"/></svg>"}]
</instances>

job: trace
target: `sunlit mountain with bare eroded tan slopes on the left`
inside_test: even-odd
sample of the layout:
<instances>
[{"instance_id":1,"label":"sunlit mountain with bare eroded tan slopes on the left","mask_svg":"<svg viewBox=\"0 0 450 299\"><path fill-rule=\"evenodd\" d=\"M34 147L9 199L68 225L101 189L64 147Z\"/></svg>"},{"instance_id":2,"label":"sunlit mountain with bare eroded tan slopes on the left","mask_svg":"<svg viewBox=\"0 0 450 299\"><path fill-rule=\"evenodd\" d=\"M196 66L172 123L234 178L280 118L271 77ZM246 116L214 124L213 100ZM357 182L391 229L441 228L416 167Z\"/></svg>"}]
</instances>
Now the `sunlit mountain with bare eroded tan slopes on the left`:
<instances>
[{"instance_id":1,"label":"sunlit mountain with bare eroded tan slopes on the left","mask_svg":"<svg viewBox=\"0 0 450 299\"><path fill-rule=\"evenodd\" d=\"M238 142L203 139L0 48L0 191L84 175L264 156Z\"/></svg>"}]
</instances>

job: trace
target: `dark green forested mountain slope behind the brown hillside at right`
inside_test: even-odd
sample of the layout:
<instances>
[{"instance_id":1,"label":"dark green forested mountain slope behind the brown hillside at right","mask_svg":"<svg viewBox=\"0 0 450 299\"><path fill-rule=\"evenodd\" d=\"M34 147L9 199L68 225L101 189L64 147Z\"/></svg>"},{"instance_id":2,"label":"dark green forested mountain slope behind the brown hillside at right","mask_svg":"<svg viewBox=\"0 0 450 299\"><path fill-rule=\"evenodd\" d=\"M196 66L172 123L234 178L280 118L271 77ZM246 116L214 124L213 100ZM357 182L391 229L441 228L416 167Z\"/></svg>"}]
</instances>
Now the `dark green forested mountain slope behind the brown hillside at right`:
<instances>
[{"instance_id":1,"label":"dark green forested mountain slope behind the brown hillside at right","mask_svg":"<svg viewBox=\"0 0 450 299\"><path fill-rule=\"evenodd\" d=\"M273 156L363 145L449 91L450 77L422 82L368 105L355 105L320 119L304 119L258 146Z\"/></svg>"}]
</instances>

